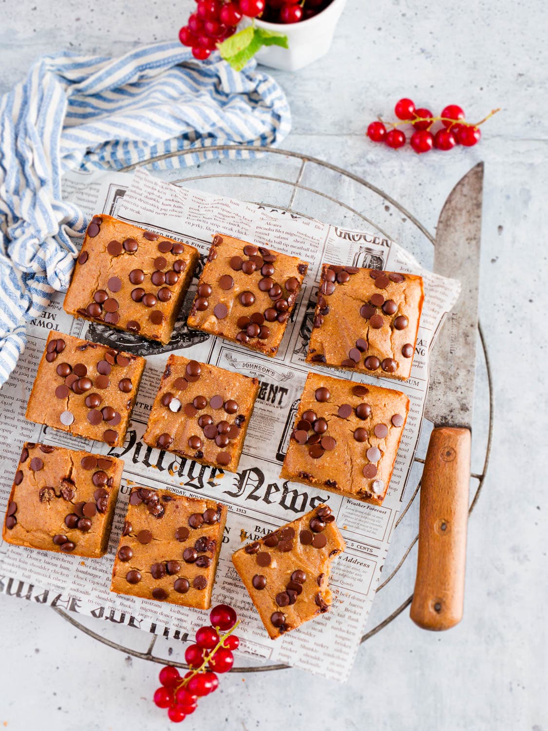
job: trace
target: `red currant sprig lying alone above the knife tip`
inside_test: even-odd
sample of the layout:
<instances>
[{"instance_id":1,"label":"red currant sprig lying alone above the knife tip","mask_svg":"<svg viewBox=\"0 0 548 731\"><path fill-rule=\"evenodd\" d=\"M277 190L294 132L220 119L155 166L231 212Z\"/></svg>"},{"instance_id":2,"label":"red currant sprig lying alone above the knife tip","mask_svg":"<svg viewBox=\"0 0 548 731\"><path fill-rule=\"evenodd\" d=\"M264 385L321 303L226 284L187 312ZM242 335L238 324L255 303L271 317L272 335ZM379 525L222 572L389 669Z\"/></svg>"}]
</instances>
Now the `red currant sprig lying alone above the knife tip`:
<instances>
[{"instance_id":1,"label":"red currant sprig lying alone above the knife tip","mask_svg":"<svg viewBox=\"0 0 548 731\"><path fill-rule=\"evenodd\" d=\"M425 107L416 109L411 99L400 99L394 107L395 114L401 122L392 122L392 129L387 131L384 122L371 122L368 126L368 137L373 142L384 142L389 147L403 147L406 144L406 135L401 129L396 129L399 124L412 124L414 132L409 143L418 154L429 152L432 148L437 150L451 150L455 145L472 147L479 142L482 132L479 125L489 119L499 110L494 109L482 121L471 124L465 120L461 107L450 104L441 111L439 117L434 117L432 112ZM437 130L433 127L441 122Z\"/></svg>"}]
</instances>

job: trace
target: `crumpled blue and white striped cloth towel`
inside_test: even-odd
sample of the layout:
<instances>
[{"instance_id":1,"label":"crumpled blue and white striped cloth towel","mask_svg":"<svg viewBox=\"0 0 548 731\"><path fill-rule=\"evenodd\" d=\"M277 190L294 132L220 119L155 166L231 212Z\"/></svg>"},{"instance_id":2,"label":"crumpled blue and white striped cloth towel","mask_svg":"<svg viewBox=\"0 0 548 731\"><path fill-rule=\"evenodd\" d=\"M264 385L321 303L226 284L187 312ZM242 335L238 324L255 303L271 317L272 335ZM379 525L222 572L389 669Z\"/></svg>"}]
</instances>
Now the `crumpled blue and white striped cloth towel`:
<instances>
[{"instance_id":1,"label":"crumpled blue and white striped cloth towel","mask_svg":"<svg viewBox=\"0 0 548 731\"><path fill-rule=\"evenodd\" d=\"M237 73L215 57L195 61L177 42L122 58L39 59L0 98L0 385L25 347L25 323L70 281L69 236L86 221L62 200L63 173L195 149L151 163L186 167L218 156L213 145L279 145L290 126L283 91L254 61Z\"/></svg>"}]
</instances>

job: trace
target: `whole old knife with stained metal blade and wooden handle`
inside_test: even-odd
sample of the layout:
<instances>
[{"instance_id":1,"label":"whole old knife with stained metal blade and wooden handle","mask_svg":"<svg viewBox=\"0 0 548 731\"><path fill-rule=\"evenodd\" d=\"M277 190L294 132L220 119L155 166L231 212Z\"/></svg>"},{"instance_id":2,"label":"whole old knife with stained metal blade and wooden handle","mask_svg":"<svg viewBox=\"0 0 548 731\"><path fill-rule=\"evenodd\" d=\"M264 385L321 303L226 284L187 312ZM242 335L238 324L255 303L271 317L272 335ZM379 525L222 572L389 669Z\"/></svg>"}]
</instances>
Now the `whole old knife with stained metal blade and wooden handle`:
<instances>
[{"instance_id":1,"label":"whole old knife with stained metal blade and wooden handle","mask_svg":"<svg viewBox=\"0 0 548 731\"><path fill-rule=\"evenodd\" d=\"M454 186L435 235L434 271L459 279L457 304L430 354L425 417L434 424L422 472L411 619L449 629L463 618L484 164Z\"/></svg>"}]
</instances>

